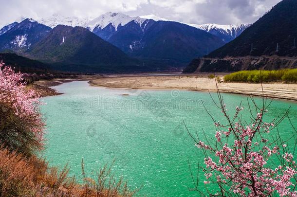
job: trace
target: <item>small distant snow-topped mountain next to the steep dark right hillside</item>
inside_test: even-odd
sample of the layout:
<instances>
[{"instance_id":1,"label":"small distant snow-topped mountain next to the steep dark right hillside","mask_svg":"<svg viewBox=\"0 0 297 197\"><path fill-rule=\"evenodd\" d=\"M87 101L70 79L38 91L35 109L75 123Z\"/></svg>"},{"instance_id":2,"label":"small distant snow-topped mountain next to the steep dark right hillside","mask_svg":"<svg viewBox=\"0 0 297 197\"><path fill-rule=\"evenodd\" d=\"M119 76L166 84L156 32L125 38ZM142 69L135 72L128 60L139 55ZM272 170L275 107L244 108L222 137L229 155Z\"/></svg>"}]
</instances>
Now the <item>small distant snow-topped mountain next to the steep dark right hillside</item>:
<instances>
[{"instance_id":1,"label":"small distant snow-topped mountain next to the steep dark right hillside","mask_svg":"<svg viewBox=\"0 0 297 197\"><path fill-rule=\"evenodd\" d=\"M203 24L195 25L196 28L202 29L212 35L220 37L224 42L230 42L251 26L251 24L240 25L218 25L218 24Z\"/></svg>"}]
</instances>

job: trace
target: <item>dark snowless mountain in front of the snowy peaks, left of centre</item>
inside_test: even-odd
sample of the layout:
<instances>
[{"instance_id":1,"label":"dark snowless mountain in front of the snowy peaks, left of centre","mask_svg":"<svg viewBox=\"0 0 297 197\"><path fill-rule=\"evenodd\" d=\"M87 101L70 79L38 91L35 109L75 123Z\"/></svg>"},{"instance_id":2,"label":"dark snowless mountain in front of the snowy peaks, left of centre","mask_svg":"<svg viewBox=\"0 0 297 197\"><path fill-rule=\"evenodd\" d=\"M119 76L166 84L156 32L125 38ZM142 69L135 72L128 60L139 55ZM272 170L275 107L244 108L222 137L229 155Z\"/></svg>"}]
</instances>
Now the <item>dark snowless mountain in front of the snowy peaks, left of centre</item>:
<instances>
[{"instance_id":1,"label":"dark snowless mountain in front of the snowy peaks, left of centre","mask_svg":"<svg viewBox=\"0 0 297 197\"><path fill-rule=\"evenodd\" d=\"M71 67L81 66L83 72L104 72L137 64L137 60L87 29L65 25L57 25L28 51L28 56L55 64L62 71L77 71Z\"/></svg>"}]
</instances>

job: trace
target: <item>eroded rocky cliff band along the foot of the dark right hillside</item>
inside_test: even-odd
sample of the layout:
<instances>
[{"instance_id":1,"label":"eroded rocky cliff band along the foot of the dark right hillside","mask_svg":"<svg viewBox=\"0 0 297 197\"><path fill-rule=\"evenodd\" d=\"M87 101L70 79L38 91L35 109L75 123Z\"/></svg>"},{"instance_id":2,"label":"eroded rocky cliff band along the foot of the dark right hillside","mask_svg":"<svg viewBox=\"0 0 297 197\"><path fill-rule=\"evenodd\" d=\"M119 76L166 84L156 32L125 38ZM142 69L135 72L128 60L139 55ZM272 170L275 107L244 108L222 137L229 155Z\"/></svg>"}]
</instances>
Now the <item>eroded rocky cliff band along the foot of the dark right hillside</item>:
<instances>
[{"instance_id":1,"label":"eroded rocky cliff band along the foot of the dark right hillside","mask_svg":"<svg viewBox=\"0 0 297 197\"><path fill-rule=\"evenodd\" d=\"M186 67L191 72L233 72L241 70L278 70L297 68L297 57L244 56L225 58L196 58Z\"/></svg>"}]
</instances>

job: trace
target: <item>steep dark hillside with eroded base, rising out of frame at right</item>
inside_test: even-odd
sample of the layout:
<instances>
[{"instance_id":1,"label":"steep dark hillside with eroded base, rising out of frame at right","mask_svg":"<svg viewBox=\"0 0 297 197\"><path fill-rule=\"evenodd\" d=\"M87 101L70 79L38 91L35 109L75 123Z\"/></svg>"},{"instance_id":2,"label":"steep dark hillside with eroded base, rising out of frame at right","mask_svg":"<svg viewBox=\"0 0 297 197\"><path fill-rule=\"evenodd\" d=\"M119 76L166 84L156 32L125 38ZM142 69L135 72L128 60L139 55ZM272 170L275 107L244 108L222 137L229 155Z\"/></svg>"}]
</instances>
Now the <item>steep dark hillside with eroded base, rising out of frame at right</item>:
<instances>
[{"instance_id":1,"label":"steep dark hillside with eroded base, rising out of frame at right","mask_svg":"<svg viewBox=\"0 0 297 197\"><path fill-rule=\"evenodd\" d=\"M297 0L282 0L240 36L185 72L297 68Z\"/></svg>"}]
</instances>

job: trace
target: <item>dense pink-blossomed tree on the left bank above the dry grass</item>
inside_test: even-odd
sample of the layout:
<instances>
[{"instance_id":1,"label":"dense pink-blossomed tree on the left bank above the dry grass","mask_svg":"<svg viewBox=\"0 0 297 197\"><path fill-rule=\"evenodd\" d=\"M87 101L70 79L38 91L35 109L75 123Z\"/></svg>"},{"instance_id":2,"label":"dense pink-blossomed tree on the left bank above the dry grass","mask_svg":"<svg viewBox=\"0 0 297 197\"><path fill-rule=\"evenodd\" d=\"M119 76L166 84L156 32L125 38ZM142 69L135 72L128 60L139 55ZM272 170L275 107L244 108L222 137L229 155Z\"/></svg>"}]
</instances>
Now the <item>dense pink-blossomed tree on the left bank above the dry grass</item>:
<instances>
[{"instance_id":1,"label":"dense pink-blossomed tree on the left bank above the dry grass","mask_svg":"<svg viewBox=\"0 0 297 197\"><path fill-rule=\"evenodd\" d=\"M26 89L20 72L0 62L0 145L28 156L42 149L45 124L38 97Z\"/></svg>"}]
</instances>

